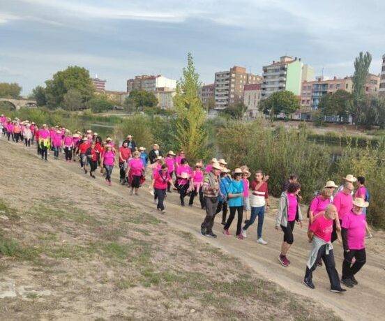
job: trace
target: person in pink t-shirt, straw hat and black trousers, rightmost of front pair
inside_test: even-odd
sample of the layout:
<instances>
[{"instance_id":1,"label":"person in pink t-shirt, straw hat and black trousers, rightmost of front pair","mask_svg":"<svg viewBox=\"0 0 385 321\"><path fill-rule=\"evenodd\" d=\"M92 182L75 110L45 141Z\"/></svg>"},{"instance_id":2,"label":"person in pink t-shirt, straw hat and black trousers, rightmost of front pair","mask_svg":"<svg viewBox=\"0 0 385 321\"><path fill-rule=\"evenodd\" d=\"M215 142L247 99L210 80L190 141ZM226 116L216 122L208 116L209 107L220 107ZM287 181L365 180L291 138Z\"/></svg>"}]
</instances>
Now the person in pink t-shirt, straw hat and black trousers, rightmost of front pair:
<instances>
[{"instance_id":1,"label":"person in pink t-shirt, straw hat and black trousers, rightmost of front pair","mask_svg":"<svg viewBox=\"0 0 385 321\"><path fill-rule=\"evenodd\" d=\"M353 209L342 218L342 244L344 247L344 262L342 263L341 282L348 288L358 285L355 275L366 262L365 233L368 223L363 209L369 206L358 197L353 201ZM355 262L352 260L355 258Z\"/></svg>"}]
</instances>

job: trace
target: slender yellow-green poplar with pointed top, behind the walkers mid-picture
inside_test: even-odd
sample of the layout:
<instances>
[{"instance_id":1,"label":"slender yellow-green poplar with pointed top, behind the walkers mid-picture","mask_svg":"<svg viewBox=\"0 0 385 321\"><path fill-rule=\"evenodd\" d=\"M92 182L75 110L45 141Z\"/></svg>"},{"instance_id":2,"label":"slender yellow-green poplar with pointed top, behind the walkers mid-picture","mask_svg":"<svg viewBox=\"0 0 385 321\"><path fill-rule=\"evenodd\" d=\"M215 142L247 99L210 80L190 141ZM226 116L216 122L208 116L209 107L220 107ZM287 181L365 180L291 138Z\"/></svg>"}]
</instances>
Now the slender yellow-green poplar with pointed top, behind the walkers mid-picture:
<instances>
[{"instance_id":1,"label":"slender yellow-green poplar with pointed top, behind the walkers mid-picture","mask_svg":"<svg viewBox=\"0 0 385 321\"><path fill-rule=\"evenodd\" d=\"M204 148L207 138L207 132L203 126L205 112L202 101L198 97L199 87L201 87L199 74L195 71L193 56L189 52L187 67L183 68L183 77L176 82L174 137L179 149L183 149L186 156L193 160L204 158L207 154Z\"/></svg>"}]
</instances>

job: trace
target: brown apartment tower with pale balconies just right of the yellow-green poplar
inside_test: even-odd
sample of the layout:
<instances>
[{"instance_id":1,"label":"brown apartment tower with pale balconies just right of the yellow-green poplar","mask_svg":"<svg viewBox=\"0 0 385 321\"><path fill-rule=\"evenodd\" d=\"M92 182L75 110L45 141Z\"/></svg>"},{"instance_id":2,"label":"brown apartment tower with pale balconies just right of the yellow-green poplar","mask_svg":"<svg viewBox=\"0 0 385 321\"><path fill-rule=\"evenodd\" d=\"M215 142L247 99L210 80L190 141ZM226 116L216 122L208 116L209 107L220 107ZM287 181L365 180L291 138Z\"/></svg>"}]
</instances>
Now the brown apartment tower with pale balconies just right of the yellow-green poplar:
<instances>
[{"instance_id":1,"label":"brown apartment tower with pale balconies just right of the yellow-green poplar","mask_svg":"<svg viewBox=\"0 0 385 321\"><path fill-rule=\"evenodd\" d=\"M224 110L229 105L242 102L245 84L261 82L261 76L246 73L246 68L243 67L234 66L227 71L218 71L215 76L215 109Z\"/></svg>"}]
</instances>

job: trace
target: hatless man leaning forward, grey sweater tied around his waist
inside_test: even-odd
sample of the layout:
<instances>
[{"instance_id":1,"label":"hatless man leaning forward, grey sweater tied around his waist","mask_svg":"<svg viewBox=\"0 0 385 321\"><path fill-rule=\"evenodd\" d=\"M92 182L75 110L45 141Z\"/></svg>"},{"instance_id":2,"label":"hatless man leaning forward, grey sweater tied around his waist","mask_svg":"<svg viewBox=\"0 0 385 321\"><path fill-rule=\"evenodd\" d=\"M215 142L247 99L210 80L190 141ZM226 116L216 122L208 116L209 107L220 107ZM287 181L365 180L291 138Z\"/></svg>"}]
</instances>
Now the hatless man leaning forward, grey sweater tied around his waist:
<instances>
[{"instance_id":1,"label":"hatless man leaning forward, grey sweater tied around his waist","mask_svg":"<svg viewBox=\"0 0 385 321\"><path fill-rule=\"evenodd\" d=\"M303 283L310 289L315 288L315 285L312 283L312 272L317 268L317 262L324 260L331 292L342 293L346 291L341 288L340 278L335 269L333 244L331 244L331 232L336 215L337 210L335 206L332 204L327 205L323 214L317 218L308 230L308 238L312 242L312 251L306 264Z\"/></svg>"}]
</instances>

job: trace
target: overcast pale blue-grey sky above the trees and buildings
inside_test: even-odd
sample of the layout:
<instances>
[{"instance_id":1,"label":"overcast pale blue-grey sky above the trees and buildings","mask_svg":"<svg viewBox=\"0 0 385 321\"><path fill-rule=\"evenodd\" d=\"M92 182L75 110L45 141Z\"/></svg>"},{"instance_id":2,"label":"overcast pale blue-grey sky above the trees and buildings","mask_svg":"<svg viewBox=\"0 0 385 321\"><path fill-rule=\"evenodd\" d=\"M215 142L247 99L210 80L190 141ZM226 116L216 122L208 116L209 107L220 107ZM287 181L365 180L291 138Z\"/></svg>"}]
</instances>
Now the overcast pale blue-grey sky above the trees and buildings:
<instances>
[{"instance_id":1,"label":"overcast pale blue-grey sky above the trees and buildings","mask_svg":"<svg viewBox=\"0 0 385 321\"><path fill-rule=\"evenodd\" d=\"M285 54L343 77L369 51L377 74L384 17L383 0L0 0L0 82L29 94L77 65L125 91L135 75L178 79L187 52L206 84L234 65L262 74Z\"/></svg>"}]
</instances>

